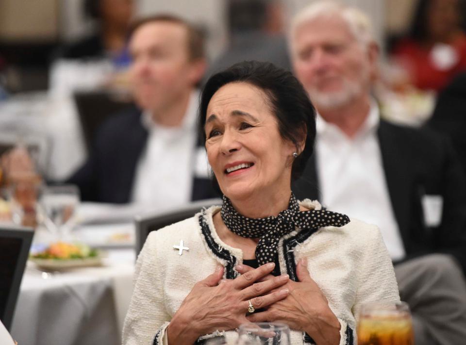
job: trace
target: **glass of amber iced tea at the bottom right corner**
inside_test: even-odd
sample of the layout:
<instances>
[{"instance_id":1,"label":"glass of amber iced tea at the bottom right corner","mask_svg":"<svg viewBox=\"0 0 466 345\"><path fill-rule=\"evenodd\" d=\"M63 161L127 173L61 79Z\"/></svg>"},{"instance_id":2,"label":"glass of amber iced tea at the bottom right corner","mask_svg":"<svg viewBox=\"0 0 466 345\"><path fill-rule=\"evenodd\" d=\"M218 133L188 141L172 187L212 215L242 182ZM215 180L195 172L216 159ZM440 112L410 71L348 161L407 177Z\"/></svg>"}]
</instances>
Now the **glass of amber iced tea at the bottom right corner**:
<instances>
[{"instance_id":1,"label":"glass of amber iced tea at the bottom right corner","mask_svg":"<svg viewBox=\"0 0 466 345\"><path fill-rule=\"evenodd\" d=\"M358 345L414 345L408 304L363 305L359 312L357 334Z\"/></svg>"}]
</instances>

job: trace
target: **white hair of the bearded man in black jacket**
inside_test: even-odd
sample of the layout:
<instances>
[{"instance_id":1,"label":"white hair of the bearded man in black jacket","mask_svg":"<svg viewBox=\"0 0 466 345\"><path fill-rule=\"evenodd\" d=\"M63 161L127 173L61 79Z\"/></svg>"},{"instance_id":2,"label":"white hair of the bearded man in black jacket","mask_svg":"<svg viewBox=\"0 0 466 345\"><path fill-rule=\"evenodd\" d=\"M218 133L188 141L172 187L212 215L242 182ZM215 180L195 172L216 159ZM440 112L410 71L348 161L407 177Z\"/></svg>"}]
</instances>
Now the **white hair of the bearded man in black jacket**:
<instances>
[{"instance_id":1,"label":"white hair of the bearded man in black jacket","mask_svg":"<svg viewBox=\"0 0 466 345\"><path fill-rule=\"evenodd\" d=\"M348 24L354 38L364 47L367 47L371 42L375 42L371 21L363 11L356 7L330 0L313 2L293 17L290 27L290 41L293 41L296 31L302 24L317 18L331 18L335 16L341 17Z\"/></svg>"}]
</instances>

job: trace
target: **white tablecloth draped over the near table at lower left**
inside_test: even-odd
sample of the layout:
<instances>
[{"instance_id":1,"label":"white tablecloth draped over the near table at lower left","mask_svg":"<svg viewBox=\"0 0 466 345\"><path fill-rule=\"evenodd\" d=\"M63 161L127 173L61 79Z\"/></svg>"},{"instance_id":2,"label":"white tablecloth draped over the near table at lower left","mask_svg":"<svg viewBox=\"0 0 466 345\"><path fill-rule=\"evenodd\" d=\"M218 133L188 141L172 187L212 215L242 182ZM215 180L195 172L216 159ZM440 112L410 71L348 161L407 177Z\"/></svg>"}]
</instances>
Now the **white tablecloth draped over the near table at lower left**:
<instances>
[{"instance_id":1,"label":"white tablecloth draped over the near table at lower left","mask_svg":"<svg viewBox=\"0 0 466 345\"><path fill-rule=\"evenodd\" d=\"M108 251L104 266L42 274L29 264L11 328L20 345L115 345L133 289L133 249Z\"/></svg>"}]
</instances>

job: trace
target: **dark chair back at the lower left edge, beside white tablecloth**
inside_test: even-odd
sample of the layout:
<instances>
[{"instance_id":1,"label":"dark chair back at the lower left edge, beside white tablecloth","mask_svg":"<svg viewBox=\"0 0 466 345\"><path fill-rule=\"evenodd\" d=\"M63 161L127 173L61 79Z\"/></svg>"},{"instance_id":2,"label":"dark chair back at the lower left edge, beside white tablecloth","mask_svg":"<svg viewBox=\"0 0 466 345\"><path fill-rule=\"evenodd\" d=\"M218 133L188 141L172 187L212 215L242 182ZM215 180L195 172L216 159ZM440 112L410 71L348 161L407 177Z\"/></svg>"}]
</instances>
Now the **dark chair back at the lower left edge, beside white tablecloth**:
<instances>
[{"instance_id":1,"label":"dark chair back at the lower left edge, beside white tablecloth","mask_svg":"<svg viewBox=\"0 0 466 345\"><path fill-rule=\"evenodd\" d=\"M0 320L10 329L34 231L0 227Z\"/></svg>"}]
</instances>

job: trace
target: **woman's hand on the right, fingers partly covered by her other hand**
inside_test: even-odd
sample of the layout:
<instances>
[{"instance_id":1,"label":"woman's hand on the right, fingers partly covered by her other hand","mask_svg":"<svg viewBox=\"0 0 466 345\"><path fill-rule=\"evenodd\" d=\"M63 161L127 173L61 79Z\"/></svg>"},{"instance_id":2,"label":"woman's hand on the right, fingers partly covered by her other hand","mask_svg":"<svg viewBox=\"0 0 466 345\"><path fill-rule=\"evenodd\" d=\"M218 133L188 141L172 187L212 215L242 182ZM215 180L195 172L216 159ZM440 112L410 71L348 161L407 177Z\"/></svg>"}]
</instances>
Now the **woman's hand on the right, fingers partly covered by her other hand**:
<instances>
[{"instance_id":1,"label":"woman's hand on the right, fingers partly covered by her other hand","mask_svg":"<svg viewBox=\"0 0 466 345\"><path fill-rule=\"evenodd\" d=\"M240 273L250 272L251 267L243 265ZM282 322L290 329L308 333L317 345L340 343L340 323L329 307L325 295L307 270L307 260L301 259L296 265L300 281L289 280L284 286L289 289L286 298L270 305L266 311L249 315L250 322ZM270 279L270 276L267 277Z\"/></svg>"}]
</instances>

